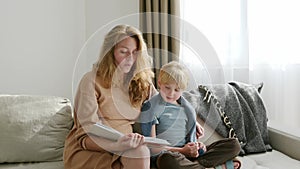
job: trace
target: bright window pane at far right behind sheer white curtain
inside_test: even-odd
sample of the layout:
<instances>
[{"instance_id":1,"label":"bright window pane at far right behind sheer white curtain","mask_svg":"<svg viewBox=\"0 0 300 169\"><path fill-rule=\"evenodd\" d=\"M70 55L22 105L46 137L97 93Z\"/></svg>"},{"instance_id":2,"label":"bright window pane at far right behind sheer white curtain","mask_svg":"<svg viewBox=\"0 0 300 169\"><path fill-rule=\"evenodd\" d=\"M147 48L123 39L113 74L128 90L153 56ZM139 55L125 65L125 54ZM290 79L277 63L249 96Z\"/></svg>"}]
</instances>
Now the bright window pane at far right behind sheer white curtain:
<instances>
[{"instance_id":1,"label":"bright window pane at far right behind sheer white curtain","mask_svg":"<svg viewBox=\"0 0 300 169\"><path fill-rule=\"evenodd\" d=\"M253 64L300 63L297 0L249 0L249 53Z\"/></svg>"}]
</instances>

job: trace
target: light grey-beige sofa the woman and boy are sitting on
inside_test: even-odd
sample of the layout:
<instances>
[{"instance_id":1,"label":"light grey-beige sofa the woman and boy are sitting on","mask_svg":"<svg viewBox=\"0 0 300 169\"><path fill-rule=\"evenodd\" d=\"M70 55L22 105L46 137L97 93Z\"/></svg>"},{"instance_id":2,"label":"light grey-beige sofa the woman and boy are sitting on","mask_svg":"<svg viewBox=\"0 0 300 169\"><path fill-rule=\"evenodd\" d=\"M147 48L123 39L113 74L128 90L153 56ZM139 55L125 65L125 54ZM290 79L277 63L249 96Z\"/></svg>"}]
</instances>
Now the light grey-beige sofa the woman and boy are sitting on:
<instances>
[{"instance_id":1,"label":"light grey-beige sofa the woman and boy are sitting on","mask_svg":"<svg viewBox=\"0 0 300 169\"><path fill-rule=\"evenodd\" d=\"M73 125L69 99L0 95L0 169L63 169L64 140ZM205 128L206 144L222 138ZM272 151L238 157L242 169L300 168L300 138L268 127Z\"/></svg>"}]
</instances>

